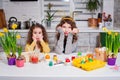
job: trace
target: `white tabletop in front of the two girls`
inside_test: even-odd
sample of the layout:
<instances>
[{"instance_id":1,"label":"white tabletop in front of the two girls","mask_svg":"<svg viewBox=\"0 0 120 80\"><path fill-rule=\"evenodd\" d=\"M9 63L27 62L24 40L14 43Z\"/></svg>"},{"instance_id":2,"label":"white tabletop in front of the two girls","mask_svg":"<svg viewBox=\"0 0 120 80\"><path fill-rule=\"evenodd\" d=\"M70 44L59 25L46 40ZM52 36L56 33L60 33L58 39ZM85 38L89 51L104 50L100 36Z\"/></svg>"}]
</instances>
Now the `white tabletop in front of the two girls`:
<instances>
[{"instance_id":1,"label":"white tabletop in front of the two girls","mask_svg":"<svg viewBox=\"0 0 120 80\"><path fill-rule=\"evenodd\" d=\"M50 53L54 55L55 53ZM76 53L69 55L58 55L58 58L64 60L65 58L71 58ZM49 66L49 61L41 61L38 64L26 62L24 67L9 66L5 55L0 54L2 60L0 60L0 78L1 77L115 77L120 79L120 71L114 71L111 69L113 66L106 65L103 68L84 71L80 68L76 68L72 65L58 64ZM52 60L52 59L51 59Z\"/></svg>"}]
</instances>

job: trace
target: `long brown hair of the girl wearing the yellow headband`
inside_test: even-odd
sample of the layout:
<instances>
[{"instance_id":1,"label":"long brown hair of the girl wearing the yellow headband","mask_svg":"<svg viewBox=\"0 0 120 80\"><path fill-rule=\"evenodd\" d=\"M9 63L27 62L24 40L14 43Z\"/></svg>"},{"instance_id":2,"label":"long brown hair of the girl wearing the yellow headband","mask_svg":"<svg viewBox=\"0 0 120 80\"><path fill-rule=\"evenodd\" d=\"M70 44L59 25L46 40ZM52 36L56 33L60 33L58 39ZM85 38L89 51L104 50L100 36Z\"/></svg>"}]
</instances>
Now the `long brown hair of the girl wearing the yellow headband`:
<instances>
[{"instance_id":1,"label":"long brown hair of the girl wearing the yellow headband","mask_svg":"<svg viewBox=\"0 0 120 80\"><path fill-rule=\"evenodd\" d=\"M73 18L70 17L70 16L65 16L65 17L63 17L63 18L61 19L60 23L56 26L56 29L57 29L58 27L60 27L60 26L62 27L62 25L65 24L65 23L68 23L68 24L71 25L71 30L73 30L73 28L77 28L77 27L76 27L76 23L75 23L75 21L73 20ZM56 38L57 38L57 40L59 40L59 37L60 37L60 33L57 32L57 33L56 33ZM73 35L72 43L73 43L73 42L76 42L77 39L78 39L77 34Z\"/></svg>"}]
</instances>

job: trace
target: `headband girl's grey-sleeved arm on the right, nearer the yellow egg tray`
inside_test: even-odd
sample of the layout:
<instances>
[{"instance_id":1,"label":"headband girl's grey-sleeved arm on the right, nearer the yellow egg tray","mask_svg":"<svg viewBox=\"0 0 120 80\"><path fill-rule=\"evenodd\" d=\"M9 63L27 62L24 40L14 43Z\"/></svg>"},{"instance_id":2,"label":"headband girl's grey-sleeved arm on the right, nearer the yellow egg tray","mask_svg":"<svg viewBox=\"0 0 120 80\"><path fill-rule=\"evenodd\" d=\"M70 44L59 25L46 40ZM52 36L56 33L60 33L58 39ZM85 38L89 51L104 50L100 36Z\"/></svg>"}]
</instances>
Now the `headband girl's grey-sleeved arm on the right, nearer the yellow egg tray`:
<instances>
[{"instance_id":1,"label":"headband girl's grey-sleeved arm on the right, nearer the yellow egg tray","mask_svg":"<svg viewBox=\"0 0 120 80\"><path fill-rule=\"evenodd\" d=\"M73 51L75 51L77 48L77 41L72 43L72 39L73 39L73 34L69 33L67 38L66 48L65 48L65 54L70 54Z\"/></svg>"}]
</instances>

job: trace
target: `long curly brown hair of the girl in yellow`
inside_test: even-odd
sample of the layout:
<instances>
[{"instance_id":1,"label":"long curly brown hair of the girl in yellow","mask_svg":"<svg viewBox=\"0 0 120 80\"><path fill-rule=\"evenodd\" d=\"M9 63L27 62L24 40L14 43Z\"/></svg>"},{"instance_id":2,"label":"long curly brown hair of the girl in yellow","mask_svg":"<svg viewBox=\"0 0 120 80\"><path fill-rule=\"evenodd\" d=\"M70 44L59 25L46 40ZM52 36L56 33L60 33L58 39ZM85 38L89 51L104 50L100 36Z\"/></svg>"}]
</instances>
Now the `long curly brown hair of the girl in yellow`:
<instances>
[{"instance_id":1,"label":"long curly brown hair of the girl in yellow","mask_svg":"<svg viewBox=\"0 0 120 80\"><path fill-rule=\"evenodd\" d=\"M39 23L36 23L36 24L33 24L30 29L29 29L29 32L28 32L28 37L27 37L27 44L31 44L33 42L33 39L32 39L32 36L33 36L33 30L35 28L40 28L42 30L42 33L43 33L43 40L48 43L48 36L47 36L47 32L44 28L43 25L39 24ZM40 42L37 42L37 45L38 47L41 49L41 52L43 51L42 49L42 46L40 44Z\"/></svg>"}]
</instances>

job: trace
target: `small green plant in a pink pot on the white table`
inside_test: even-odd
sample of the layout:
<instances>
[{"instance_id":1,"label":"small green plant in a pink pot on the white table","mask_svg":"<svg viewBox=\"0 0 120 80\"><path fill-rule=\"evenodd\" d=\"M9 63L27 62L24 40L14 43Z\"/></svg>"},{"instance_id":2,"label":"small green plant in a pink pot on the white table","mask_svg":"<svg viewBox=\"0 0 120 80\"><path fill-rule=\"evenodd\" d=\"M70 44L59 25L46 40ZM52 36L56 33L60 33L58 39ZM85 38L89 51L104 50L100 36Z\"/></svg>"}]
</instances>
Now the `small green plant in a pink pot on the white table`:
<instances>
[{"instance_id":1,"label":"small green plant in a pink pot on the white table","mask_svg":"<svg viewBox=\"0 0 120 80\"><path fill-rule=\"evenodd\" d=\"M16 66L23 67L25 60L24 60L24 57L21 55L22 54L22 46L17 47L17 52L18 52L18 57L16 59Z\"/></svg>"}]
</instances>

